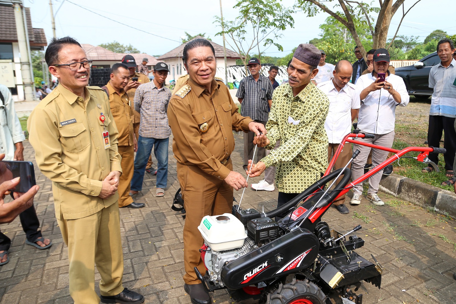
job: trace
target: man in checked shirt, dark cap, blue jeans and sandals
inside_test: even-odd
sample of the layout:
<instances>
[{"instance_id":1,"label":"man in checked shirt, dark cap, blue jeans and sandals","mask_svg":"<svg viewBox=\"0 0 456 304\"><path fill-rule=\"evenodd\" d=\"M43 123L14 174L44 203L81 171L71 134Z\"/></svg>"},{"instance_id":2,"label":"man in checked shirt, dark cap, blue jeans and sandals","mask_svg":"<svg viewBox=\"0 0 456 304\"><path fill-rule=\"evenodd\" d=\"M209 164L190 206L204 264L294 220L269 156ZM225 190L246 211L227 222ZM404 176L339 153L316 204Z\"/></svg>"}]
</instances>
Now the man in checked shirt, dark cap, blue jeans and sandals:
<instances>
[{"instance_id":1,"label":"man in checked shirt, dark cap, blue jeans and sandals","mask_svg":"<svg viewBox=\"0 0 456 304\"><path fill-rule=\"evenodd\" d=\"M141 84L135 92L135 110L140 112L141 120L130 195L137 194L142 189L145 166L154 146L158 162L155 195L165 195L168 178L168 141L171 135L166 111L171 99L171 91L163 84L168 72L166 63L157 63L153 72L154 80Z\"/></svg>"}]
</instances>

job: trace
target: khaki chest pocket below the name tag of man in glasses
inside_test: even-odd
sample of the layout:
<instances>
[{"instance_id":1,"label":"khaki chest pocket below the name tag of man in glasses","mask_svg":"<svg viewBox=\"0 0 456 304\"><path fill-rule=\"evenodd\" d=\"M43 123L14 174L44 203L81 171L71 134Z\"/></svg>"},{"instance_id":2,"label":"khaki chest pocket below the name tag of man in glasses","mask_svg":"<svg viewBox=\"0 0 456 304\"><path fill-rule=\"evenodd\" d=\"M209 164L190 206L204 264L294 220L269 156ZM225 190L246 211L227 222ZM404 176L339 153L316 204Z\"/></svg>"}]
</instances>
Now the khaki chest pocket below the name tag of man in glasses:
<instances>
[{"instance_id":1,"label":"khaki chest pocket below the name tag of man in glasses","mask_svg":"<svg viewBox=\"0 0 456 304\"><path fill-rule=\"evenodd\" d=\"M82 122L62 126L58 129L63 150L81 152L90 145L90 134Z\"/></svg>"}]
</instances>

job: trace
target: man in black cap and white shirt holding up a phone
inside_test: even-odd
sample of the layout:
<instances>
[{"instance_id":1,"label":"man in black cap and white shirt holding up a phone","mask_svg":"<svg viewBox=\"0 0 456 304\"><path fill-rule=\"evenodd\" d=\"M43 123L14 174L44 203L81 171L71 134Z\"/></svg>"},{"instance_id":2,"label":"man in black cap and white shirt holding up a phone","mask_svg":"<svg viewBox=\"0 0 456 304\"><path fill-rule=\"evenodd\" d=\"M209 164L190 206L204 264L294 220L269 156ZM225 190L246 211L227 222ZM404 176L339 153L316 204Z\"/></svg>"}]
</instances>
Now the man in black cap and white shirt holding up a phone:
<instances>
[{"instance_id":1,"label":"man in black cap and white shirt holding up a phone","mask_svg":"<svg viewBox=\"0 0 456 304\"><path fill-rule=\"evenodd\" d=\"M368 142L383 147L392 147L394 140L394 121L397 105L406 106L409 103L409 94L405 88L404 80L388 71L389 53L384 48L379 48L373 54L373 72L362 75L356 82L357 94L361 100L361 108L358 115L358 129L374 135L373 139L358 139L360 142ZM385 81L381 81L378 73L386 73ZM360 151L358 157L352 163L352 178L356 180L364 174L370 147L353 145L353 150ZM372 167L375 168L386 160L388 152L373 149ZM378 184L383 170L369 178L367 199L373 204L383 205L378 197ZM363 194L363 184L355 185L353 198L350 204L360 204Z\"/></svg>"}]
</instances>

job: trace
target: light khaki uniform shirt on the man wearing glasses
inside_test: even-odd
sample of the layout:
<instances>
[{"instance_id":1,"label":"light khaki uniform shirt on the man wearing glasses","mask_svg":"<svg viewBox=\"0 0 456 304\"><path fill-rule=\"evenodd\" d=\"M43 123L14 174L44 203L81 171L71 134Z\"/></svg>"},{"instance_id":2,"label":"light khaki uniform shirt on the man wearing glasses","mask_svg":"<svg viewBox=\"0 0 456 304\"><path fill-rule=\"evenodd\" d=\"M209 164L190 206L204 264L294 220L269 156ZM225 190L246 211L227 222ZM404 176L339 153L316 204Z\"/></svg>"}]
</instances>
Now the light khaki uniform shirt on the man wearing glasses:
<instances>
[{"instance_id":1,"label":"light khaki uniform shirt on the man wearing glasses","mask_svg":"<svg viewBox=\"0 0 456 304\"><path fill-rule=\"evenodd\" d=\"M59 85L41 100L27 122L38 168L52 181L58 220L93 215L117 204L119 198L117 193L108 199L98 197L109 172L122 172L119 134L108 98L99 87L86 87L85 96L83 100ZM104 123L100 113L106 118ZM107 149L104 128L111 144Z\"/></svg>"}]
</instances>

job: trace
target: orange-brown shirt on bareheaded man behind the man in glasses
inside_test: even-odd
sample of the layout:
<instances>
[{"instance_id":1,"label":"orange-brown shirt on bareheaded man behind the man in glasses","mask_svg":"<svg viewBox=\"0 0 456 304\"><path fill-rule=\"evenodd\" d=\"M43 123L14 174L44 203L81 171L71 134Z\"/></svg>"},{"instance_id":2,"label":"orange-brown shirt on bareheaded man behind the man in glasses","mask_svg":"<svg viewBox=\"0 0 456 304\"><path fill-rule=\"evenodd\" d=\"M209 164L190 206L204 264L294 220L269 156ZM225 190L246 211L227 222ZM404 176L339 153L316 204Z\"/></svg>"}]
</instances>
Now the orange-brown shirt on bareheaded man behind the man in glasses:
<instances>
[{"instance_id":1,"label":"orange-brown shirt on bareheaded man behind the man in glasses","mask_svg":"<svg viewBox=\"0 0 456 304\"><path fill-rule=\"evenodd\" d=\"M111 84L106 84L109 92L109 107L111 114L114 117L115 125L119 131L119 146L132 146L134 143L133 137L135 131L133 131L133 118L134 110L129 105L129 99L127 93L122 90L119 95Z\"/></svg>"}]
</instances>

